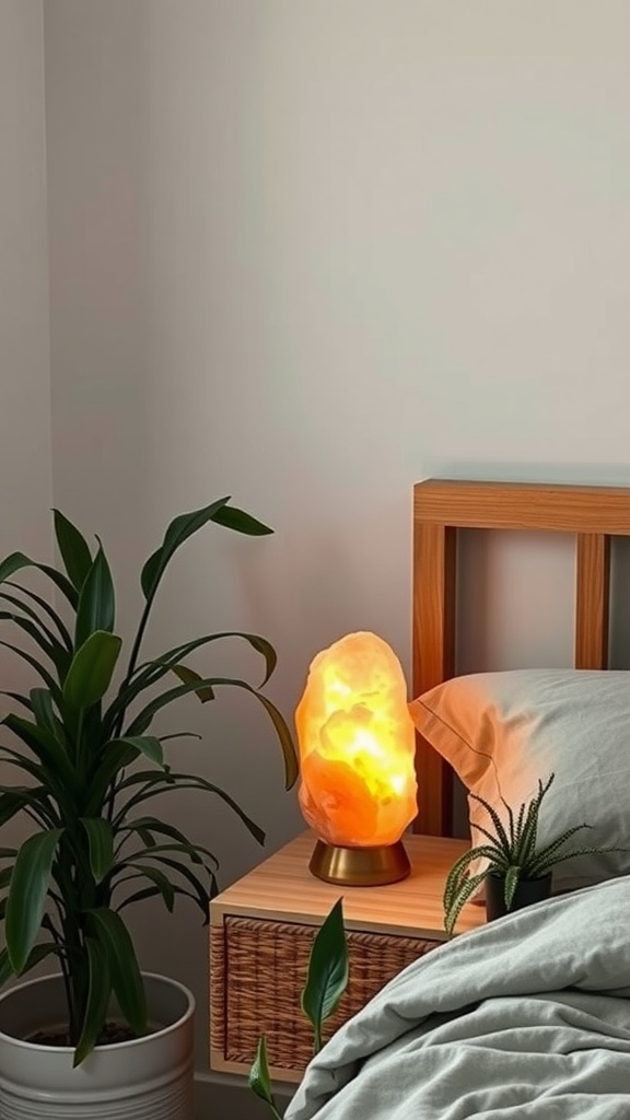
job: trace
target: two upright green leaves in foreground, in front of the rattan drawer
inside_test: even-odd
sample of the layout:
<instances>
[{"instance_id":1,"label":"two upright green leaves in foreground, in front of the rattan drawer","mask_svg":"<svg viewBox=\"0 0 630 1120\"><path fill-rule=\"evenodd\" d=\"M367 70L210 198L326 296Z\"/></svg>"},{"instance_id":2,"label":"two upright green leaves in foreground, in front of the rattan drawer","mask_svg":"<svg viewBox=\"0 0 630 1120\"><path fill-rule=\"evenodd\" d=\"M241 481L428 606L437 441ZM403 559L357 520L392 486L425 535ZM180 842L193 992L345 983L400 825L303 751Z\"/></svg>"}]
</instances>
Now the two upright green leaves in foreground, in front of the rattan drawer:
<instances>
[{"instance_id":1,"label":"two upright green leaves in foreground, in front of the rattan drawer","mask_svg":"<svg viewBox=\"0 0 630 1120\"><path fill-rule=\"evenodd\" d=\"M339 898L319 926L308 958L306 983L302 992L302 1010L313 1026L313 1053L322 1048L324 1024L335 1014L348 987L348 941L343 923L343 899ZM282 1120L271 1088L267 1038L261 1035L256 1060L250 1070L249 1085L265 1101L274 1120Z\"/></svg>"}]
</instances>

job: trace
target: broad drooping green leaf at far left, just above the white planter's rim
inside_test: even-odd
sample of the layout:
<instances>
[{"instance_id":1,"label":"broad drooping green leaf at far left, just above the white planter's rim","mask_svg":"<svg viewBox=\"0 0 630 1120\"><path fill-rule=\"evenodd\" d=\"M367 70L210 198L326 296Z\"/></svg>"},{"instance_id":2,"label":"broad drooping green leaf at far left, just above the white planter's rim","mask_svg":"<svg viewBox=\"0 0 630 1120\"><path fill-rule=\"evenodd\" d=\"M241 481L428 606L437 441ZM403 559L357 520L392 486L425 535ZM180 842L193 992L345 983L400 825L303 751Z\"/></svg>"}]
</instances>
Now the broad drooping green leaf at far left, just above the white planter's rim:
<instances>
[{"instance_id":1,"label":"broad drooping green leaf at far left, just above the white planter's rim","mask_svg":"<svg viewBox=\"0 0 630 1120\"><path fill-rule=\"evenodd\" d=\"M22 843L11 877L4 934L11 968L21 976L35 945L63 829L37 832Z\"/></svg>"}]
</instances>

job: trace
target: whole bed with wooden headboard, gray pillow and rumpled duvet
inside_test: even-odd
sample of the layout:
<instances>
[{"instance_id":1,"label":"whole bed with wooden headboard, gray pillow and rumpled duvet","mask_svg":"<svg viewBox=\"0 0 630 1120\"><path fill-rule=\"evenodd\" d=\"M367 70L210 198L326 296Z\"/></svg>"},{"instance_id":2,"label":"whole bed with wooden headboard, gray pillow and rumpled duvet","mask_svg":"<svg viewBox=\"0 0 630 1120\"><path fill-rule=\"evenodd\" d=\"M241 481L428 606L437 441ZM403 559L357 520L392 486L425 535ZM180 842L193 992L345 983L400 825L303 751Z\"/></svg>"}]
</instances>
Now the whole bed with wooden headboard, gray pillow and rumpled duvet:
<instances>
[{"instance_id":1,"label":"whole bed with wooden headboard, gray pillow and rumpled duvet","mask_svg":"<svg viewBox=\"0 0 630 1120\"><path fill-rule=\"evenodd\" d=\"M455 675L466 528L575 535L573 669ZM608 670L614 535L630 535L630 489L415 487L416 830L452 834L454 774L499 809L553 769L541 830L589 816L593 846L617 850L568 860L552 898L396 977L312 1062L287 1120L630 1116L630 676Z\"/></svg>"}]
</instances>

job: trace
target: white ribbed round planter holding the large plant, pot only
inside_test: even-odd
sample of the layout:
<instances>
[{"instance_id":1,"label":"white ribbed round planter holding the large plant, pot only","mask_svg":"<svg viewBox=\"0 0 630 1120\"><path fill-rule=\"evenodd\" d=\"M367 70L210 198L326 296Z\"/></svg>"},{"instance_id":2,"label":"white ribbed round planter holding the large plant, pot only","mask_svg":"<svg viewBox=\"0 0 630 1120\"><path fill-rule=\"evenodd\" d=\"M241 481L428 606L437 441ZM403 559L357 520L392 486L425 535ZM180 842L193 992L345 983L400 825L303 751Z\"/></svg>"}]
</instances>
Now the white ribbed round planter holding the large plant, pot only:
<instances>
[{"instance_id":1,"label":"white ribbed round planter holding the large plant, pot only","mask_svg":"<svg viewBox=\"0 0 630 1120\"><path fill-rule=\"evenodd\" d=\"M154 973L145 983L154 1033L99 1046L76 1070L70 1047L24 1042L64 1021L61 977L0 996L1 1120L193 1120L194 996Z\"/></svg>"}]
</instances>

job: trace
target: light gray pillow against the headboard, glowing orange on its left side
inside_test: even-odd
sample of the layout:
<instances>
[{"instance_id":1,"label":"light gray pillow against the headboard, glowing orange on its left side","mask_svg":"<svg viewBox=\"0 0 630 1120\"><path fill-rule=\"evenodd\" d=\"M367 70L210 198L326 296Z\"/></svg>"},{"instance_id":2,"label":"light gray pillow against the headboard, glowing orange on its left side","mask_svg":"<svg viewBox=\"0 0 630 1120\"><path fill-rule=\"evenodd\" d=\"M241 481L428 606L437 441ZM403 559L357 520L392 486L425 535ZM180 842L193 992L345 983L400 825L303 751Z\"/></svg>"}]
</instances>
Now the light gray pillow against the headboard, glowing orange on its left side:
<instances>
[{"instance_id":1,"label":"light gray pillow against the headboard, glowing orange on its left side","mask_svg":"<svg viewBox=\"0 0 630 1120\"><path fill-rule=\"evenodd\" d=\"M554 892L630 870L630 673L512 670L456 676L410 704L417 729L472 793L502 820L556 777L540 809L539 846L575 824L590 829L575 847L615 844L628 851L580 856L554 869ZM419 791L421 796L421 790ZM488 813L469 797L473 843ZM474 874L482 869L473 865Z\"/></svg>"}]
</instances>

